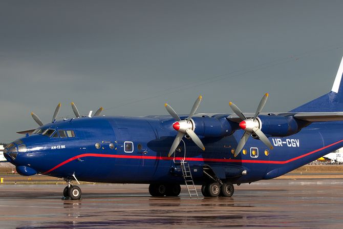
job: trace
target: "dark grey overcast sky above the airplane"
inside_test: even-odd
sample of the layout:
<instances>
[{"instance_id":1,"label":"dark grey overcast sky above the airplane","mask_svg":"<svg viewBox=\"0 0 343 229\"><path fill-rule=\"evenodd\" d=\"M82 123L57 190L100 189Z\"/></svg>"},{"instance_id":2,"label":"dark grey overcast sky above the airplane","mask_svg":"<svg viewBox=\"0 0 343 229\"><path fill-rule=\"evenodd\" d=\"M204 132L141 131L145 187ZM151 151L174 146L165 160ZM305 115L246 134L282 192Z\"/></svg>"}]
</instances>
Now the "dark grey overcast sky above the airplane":
<instances>
[{"instance_id":1,"label":"dark grey overcast sky above the airplane","mask_svg":"<svg viewBox=\"0 0 343 229\"><path fill-rule=\"evenodd\" d=\"M288 111L327 93L343 54L342 1L0 1L0 141L105 115ZM107 109L107 110L106 110Z\"/></svg>"}]
</instances>

